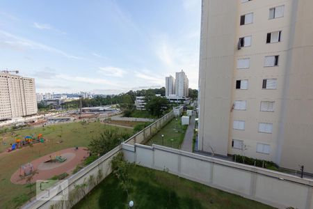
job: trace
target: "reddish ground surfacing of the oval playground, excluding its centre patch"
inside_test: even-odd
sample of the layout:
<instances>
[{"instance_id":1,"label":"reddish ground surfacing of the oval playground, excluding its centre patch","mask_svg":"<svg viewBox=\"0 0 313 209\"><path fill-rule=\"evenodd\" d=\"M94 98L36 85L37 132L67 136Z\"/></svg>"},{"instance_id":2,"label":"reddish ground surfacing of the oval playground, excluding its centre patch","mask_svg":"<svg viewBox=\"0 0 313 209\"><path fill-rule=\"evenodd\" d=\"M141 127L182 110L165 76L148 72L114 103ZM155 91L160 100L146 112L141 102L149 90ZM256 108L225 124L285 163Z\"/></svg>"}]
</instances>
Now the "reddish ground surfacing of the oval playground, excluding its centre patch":
<instances>
[{"instance_id":1,"label":"reddish ground surfacing of the oval playground, excluding its centre patch","mask_svg":"<svg viewBox=\"0 0 313 209\"><path fill-rule=\"evenodd\" d=\"M37 170L38 173L35 174L31 182L33 183L36 180L46 180L65 172L71 174L77 164L81 163L85 157L88 157L88 150L84 149L86 148L79 147L78 150L75 150L75 148L67 148L33 160L31 164L33 164L33 168ZM55 155L66 157L67 160L65 160L65 162L45 163L47 160L51 159L50 156ZM21 180L19 173L20 169L17 169L17 171L13 173L11 176L11 182L15 184L25 184L26 179Z\"/></svg>"}]
</instances>

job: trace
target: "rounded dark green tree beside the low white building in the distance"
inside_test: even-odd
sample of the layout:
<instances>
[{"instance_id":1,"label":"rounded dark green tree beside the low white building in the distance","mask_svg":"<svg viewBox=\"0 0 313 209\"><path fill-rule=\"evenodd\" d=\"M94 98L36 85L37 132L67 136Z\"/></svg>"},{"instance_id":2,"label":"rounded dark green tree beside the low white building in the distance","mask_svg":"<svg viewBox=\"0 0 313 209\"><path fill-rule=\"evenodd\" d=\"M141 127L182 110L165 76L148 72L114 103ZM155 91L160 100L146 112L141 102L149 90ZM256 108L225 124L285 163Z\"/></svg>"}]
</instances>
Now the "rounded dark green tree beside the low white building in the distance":
<instances>
[{"instance_id":1,"label":"rounded dark green tree beside the low white building in the distance","mask_svg":"<svg viewBox=\"0 0 313 209\"><path fill-rule=\"evenodd\" d=\"M163 111L168 109L169 102L166 98L153 96L147 100L145 104L145 109L150 112L153 116L160 117L163 114Z\"/></svg>"}]
</instances>

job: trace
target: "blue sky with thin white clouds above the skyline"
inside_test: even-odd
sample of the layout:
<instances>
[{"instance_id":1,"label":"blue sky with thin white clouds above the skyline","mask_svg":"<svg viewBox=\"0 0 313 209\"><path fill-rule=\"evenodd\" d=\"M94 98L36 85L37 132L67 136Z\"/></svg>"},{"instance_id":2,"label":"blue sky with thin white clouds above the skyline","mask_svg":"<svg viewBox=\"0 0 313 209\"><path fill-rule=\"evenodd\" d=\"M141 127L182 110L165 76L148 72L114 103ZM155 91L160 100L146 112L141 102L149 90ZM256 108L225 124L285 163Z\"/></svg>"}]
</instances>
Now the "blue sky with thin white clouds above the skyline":
<instances>
[{"instance_id":1,"label":"blue sky with thin white clouds above the skyline","mask_svg":"<svg viewBox=\"0 0 313 209\"><path fill-rule=\"evenodd\" d=\"M0 70L37 93L198 88L201 0L0 1Z\"/></svg>"}]
</instances>

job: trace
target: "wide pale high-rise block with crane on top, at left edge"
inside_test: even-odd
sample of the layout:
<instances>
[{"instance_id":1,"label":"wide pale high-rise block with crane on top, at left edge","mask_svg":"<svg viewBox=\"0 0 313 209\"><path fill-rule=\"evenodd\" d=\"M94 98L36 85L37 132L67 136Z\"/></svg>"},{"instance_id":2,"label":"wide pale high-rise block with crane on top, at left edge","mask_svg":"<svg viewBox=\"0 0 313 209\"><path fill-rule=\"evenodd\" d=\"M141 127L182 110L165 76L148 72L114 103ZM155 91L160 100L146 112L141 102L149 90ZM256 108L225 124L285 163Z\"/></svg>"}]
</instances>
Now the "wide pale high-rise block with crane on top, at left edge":
<instances>
[{"instance_id":1,"label":"wide pale high-rise block with crane on top, at left edge","mask_svg":"<svg viewBox=\"0 0 313 209\"><path fill-rule=\"evenodd\" d=\"M0 72L0 120L37 114L35 80Z\"/></svg>"}]
</instances>

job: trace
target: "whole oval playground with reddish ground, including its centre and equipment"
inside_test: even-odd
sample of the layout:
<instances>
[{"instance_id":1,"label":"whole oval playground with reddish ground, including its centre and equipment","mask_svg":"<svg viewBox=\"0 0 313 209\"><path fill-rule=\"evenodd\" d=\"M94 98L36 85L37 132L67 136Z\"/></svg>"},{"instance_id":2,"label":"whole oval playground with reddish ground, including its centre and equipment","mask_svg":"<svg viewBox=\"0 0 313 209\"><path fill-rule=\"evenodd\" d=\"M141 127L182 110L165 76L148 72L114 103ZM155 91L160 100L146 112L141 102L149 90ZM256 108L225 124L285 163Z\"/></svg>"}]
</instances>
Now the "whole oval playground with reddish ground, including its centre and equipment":
<instances>
[{"instance_id":1,"label":"whole oval playground with reddish ground, including its centre and equipment","mask_svg":"<svg viewBox=\"0 0 313 209\"><path fill-rule=\"evenodd\" d=\"M49 179L61 173L72 173L77 164L86 157L88 157L88 150L83 147L67 148L50 153L19 167L10 180L14 184L25 184L27 177L35 171L30 183L34 183L36 180Z\"/></svg>"}]
</instances>

